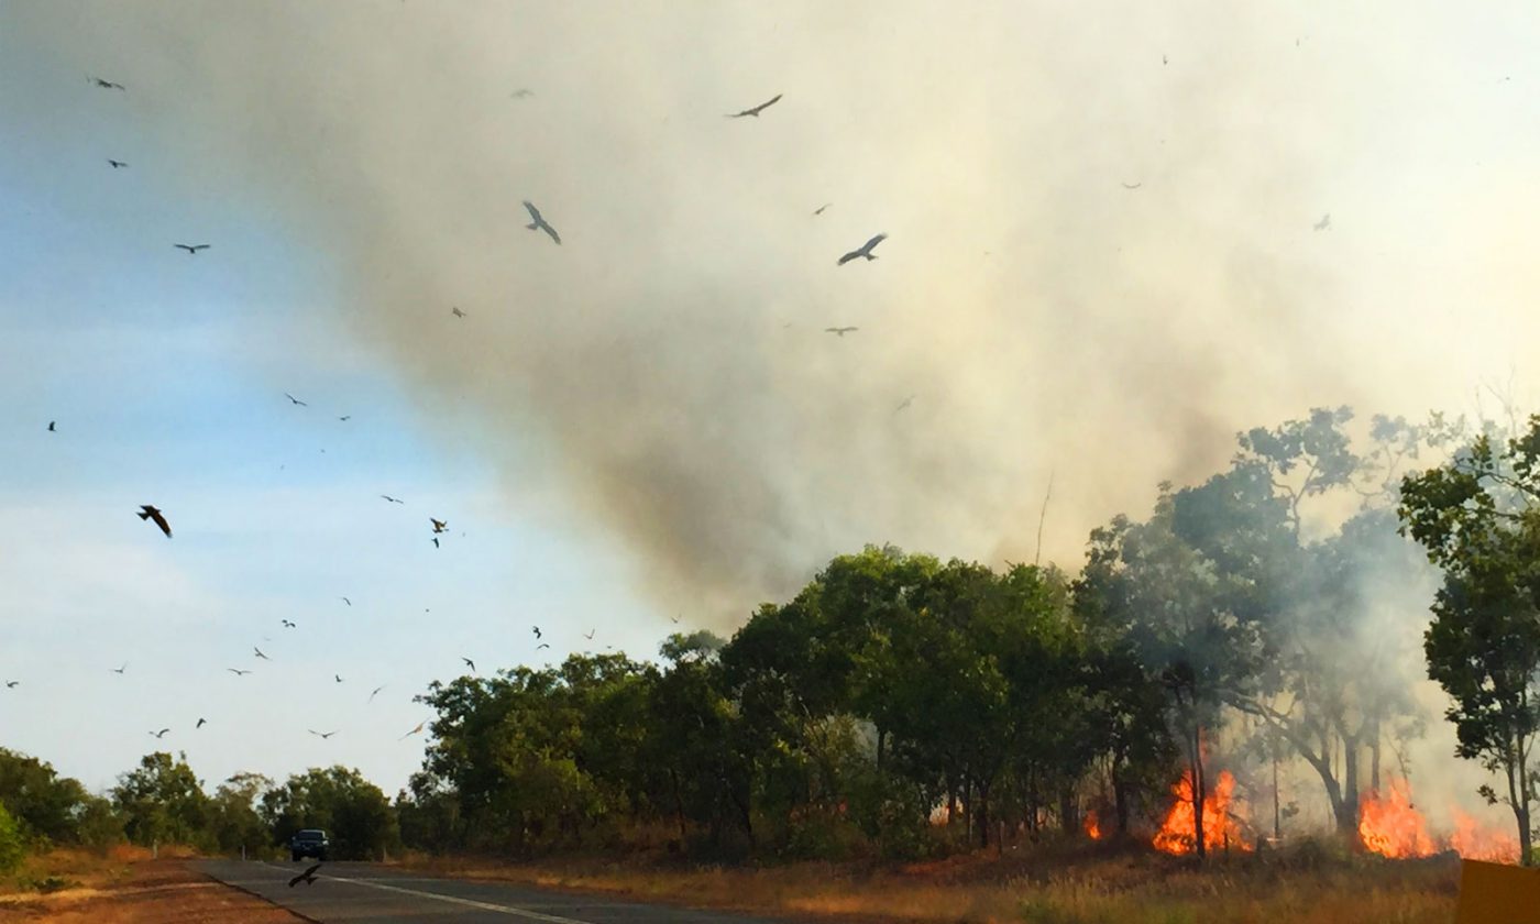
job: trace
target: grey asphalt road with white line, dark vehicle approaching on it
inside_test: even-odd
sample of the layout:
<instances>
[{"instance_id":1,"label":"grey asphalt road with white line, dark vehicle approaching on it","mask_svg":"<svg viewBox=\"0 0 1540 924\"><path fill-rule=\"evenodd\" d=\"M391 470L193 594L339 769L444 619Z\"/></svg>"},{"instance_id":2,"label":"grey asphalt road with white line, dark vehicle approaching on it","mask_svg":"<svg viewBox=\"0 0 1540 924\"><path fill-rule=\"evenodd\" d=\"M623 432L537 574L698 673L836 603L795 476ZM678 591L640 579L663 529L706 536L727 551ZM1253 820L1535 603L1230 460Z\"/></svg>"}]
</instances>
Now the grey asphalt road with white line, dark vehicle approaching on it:
<instances>
[{"instance_id":1,"label":"grey asphalt road with white line, dark vehicle approaching on it","mask_svg":"<svg viewBox=\"0 0 1540 924\"><path fill-rule=\"evenodd\" d=\"M773 924L768 918L639 904L508 882L440 879L370 862L328 862L316 873L314 884L300 882L291 889L290 878L313 862L205 861L196 869L322 924L480 924L521 919L547 924Z\"/></svg>"}]
</instances>

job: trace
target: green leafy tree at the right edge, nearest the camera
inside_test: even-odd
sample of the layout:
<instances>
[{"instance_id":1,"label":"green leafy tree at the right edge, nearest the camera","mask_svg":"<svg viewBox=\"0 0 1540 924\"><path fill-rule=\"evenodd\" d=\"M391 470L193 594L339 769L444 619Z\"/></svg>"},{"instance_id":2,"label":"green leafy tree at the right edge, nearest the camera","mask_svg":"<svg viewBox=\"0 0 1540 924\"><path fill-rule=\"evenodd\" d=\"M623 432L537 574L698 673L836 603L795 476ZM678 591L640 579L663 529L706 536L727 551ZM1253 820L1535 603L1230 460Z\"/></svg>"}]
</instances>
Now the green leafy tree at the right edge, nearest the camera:
<instances>
[{"instance_id":1,"label":"green leafy tree at the right edge, nearest the camera","mask_svg":"<svg viewBox=\"0 0 1540 924\"><path fill-rule=\"evenodd\" d=\"M1531 864L1540 732L1540 416L1523 436L1478 436L1468 450L1401 484L1401 528L1445 571L1424 636L1428 676L1451 698L1465 759L1502 770L1506 804Z\"/></svg>"}]
</instances>

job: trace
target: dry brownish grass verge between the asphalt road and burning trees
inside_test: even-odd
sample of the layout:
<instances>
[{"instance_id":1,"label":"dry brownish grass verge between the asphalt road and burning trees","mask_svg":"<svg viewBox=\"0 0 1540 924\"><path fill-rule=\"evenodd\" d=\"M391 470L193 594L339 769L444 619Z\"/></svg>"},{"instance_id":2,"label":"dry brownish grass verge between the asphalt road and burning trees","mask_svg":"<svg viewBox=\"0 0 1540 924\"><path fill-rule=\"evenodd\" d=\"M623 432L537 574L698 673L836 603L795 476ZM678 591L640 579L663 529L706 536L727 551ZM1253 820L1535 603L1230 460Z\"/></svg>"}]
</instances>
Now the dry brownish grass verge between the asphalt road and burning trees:
<instances>
[{"instance_id":1,"label":"dry brownish grass verge between the asphalt road and burning trees","mask_svg":"<svg viewBox=\"0 0 1540 924\"><path fill-rule=\"evenodd\" d=\"M1247 856L1198 869L1143 850L1107 849L1041 849L1006 858L986 853L902 867L793 864L750 870L598 859L414 859L408 865L705 907L916 924L1448 924L1460 875L1452 859Z\"/></svg>"}]
</instances>

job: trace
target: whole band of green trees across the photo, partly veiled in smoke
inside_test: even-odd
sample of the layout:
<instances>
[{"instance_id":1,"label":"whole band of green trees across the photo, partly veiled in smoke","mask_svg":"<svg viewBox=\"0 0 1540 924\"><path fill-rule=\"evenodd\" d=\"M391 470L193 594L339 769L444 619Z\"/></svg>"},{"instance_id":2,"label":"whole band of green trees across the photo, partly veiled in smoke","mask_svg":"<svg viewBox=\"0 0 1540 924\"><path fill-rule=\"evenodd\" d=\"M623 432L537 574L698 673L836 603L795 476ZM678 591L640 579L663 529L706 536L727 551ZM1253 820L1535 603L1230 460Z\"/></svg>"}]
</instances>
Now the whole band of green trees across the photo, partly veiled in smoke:
<instances>
[{"instance_id":1,"label":"whole band of green trees across the photo, partly veiled in smoke","mask_svg":"<svg viewBox=\"0 0 1540 924\"><path fill-rule=\"evenodd\" d=\"M670 638L658 664L573 654L434 682L424 767L394 805L342 767L205 795L163 753L109 801L63 781L18 805L0 765L0 805L55 841L222 852L323 827L339 858L912 858L999 830L1076 835L1087 812L1133 833L1178 779L1201 804L1220 768L1298 761L1355 838L1360 793L1421 733L1409 684L1431 676L1460 756L1505 773L1485 795L1514 810L1528 858L1540 417L1523 434L1374 417L1357 444L1351 420L1240 434L1227 470L1093 530L1078 578L869 547L730 641ZM1272 808L1258 815L1278 824Z\"/></svg>"}]
</instances>

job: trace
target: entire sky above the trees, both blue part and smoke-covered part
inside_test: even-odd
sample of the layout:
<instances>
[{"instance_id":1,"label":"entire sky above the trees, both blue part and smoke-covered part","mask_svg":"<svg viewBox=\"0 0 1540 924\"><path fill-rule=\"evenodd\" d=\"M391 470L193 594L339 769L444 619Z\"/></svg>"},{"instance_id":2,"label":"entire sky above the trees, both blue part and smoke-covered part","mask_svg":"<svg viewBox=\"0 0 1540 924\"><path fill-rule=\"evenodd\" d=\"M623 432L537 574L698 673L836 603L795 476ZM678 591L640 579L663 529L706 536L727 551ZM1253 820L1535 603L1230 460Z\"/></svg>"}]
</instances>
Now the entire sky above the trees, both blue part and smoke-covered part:
<instances>
[{"instance_id":1,"label":"entire sky above the trees, both blue part and smoke-covered part","mask_svg":"<svg viewBox=\"0 0 1540 924\"><path fill-rule=\"evenodd\" d=\"M1532 407L1537 17L0 3L0 744L393 793L462 658L1032 559L1050 479L1073 571L1240 430Z\"/></svg>"}]
</instances>

